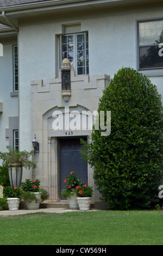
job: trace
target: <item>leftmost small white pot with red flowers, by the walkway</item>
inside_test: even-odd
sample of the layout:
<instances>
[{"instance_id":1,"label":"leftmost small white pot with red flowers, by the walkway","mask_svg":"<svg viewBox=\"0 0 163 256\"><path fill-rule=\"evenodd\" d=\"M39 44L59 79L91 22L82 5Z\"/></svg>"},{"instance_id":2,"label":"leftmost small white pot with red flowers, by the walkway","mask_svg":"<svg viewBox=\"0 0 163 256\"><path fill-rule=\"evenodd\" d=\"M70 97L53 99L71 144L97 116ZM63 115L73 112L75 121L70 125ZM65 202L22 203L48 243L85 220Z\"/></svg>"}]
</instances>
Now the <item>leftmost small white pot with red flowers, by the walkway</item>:
<instances>
[{"instance_id":1,"label":"leftmost small white pot with red flowers, by the walkway","mask_svg":"<svg viewBox=\"0 0 163 256\"><path fill-rule=\"evenodd\" d=\"M22 189L20 187L3 187L3 195L7 198L9 210L18 210L20 198L22 197Z\"/></svg>"}]
</instances>

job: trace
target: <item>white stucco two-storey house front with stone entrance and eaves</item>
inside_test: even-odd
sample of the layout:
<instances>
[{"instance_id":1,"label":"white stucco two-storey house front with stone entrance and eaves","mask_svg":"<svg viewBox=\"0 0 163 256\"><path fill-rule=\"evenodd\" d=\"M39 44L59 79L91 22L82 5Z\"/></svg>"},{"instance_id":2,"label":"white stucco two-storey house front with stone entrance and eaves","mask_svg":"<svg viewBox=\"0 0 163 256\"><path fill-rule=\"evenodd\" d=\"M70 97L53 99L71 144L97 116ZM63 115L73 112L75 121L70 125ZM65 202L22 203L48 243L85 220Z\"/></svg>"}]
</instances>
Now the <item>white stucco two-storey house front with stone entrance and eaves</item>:
<instances>
[{"instance_id":1,"label":"white stucco two-storey house front with stone entrance and eaves","mask_svg":"<svg viewBox=\"0 0 163 256\"><path fill-rule=\"evenodd\" d=\"M0 1L0 151L10 145L39 153L35 170L50 193L70 171L93 186L80 157L80 138L91 138L89 115L118 69L145 74L163 95L163 2L150 0Z\"/></svg>"}]
</instances>

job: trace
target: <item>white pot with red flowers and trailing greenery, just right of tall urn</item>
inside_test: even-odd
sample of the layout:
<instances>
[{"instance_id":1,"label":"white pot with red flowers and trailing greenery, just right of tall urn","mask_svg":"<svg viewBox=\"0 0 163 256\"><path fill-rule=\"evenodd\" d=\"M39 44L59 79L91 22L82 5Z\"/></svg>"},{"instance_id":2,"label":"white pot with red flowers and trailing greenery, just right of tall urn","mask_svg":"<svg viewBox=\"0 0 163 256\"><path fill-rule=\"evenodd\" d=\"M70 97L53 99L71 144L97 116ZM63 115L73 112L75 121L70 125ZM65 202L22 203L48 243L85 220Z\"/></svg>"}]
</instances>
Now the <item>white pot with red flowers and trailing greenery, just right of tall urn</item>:
<instances>
[{"instance_id":1,"label":"white pot with red flowers and trailing greenery, just right of tall urn","mask_svg":"<svg viewBox=\"0 0 163 256\"><path fill-rule=\"evenodd\" d=\"M39 209L40 203L47 200L49 193L46 189L40 188L40 180L25 180L21 182L22 199L27 204L28 210Z\"/></svg>"}]
</instances>

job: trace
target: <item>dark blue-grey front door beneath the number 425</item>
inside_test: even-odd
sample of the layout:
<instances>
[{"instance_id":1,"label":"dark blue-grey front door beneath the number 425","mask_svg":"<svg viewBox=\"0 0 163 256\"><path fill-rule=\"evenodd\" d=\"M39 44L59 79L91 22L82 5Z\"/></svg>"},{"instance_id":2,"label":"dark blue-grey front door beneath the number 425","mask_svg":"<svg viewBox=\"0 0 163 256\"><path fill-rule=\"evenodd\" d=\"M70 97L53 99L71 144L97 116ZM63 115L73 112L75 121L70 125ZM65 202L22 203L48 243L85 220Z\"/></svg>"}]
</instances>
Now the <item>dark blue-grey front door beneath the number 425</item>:
<instances>
[{"instance_id":1,"label":"dark blue-grey front door beneath the number 425","mask_svg":"<svg viewBox=\"0 0 163 256\"><path fill-rule=\"evenodd\" d=\"M60 163L60 187L65 187L65 178L70 172L76 172L80 181L87 185L87 163L80 154L80 139L60 139L61 163ZM62 198L61 198L62 199Z\"/></svg>"}]
</instances>

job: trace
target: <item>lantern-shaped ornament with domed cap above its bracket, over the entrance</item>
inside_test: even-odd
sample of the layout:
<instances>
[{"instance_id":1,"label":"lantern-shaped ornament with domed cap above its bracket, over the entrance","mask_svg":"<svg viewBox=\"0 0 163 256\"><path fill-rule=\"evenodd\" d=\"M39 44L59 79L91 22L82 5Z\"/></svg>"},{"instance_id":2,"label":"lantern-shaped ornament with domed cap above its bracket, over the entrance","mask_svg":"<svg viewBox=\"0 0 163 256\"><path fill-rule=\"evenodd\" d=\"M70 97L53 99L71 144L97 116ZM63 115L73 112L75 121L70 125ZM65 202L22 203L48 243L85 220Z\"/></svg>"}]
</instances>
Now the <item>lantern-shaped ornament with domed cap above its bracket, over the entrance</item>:
<instances>
[{"instance_id":1,"label":"lantern-shaped ornament with domed cap above its bracket, over the entrance","mask_svg":"<svg viewBox=\"0 0 163 256\"><path fill-rule=\"evenodd\" d=\"M61 64L61 85L63 90L71 90L70 79L71 63L69 59L64 58Z\"/></svg>"}]
</instances>

